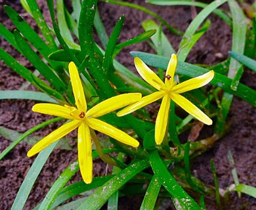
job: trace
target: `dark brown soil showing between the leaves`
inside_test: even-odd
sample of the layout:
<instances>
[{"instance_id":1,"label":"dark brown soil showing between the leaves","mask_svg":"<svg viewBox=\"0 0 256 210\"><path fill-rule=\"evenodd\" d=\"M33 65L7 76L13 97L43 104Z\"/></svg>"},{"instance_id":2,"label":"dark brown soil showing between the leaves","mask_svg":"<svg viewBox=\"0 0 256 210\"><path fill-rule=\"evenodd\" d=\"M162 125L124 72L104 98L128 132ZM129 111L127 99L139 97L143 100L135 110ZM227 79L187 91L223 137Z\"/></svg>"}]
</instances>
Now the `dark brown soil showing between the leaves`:
<instances>
[{"instance_id":1,"label":"dark brown soil showing between the leaves","mask_svg":"<svg viewBox=\"0 0 256 210\"><path fill-rule=\"evenodd\" d=\"M47 6L45 5L45 1L41 0L37 2L39 2L41 10L46 14ZM192 21L191 7L157 7L154 5L146 5L144 1L140 0L130 0L129 2L142 5L157 14L160 14L165 18L165 20L167 20L167 22L181 31L186 30L188 24ZM31 20L30 16L28 16L26 12L24 12L19 1L0 0L0 22L9 28L9 30L14 30L14 26L12 25L11 20L9 20L7 14L3 11L3 5L9 5L18 11L35 28L35 31L38 31L38 28L35 27L35 22ZM224 8L228 8L227 5L224 5ZM152 16L135 9L110 5L108 3L100 2L98 4L98 9L102 15L104 26L106 27L108 34L113 30L119 16L121 16L121 14L125 14L125 24L123 26L119 42L126 41L139 35L139 33L142 33L143 29L140 24L144 20L152 18ZM197 11L199 12L200 10ZM203 35L200 41L192 49L192 52L186 60L187 62L213 65L228 57L228 51L230 51L232 45L232 33L230 28L224 24L223 20L215 16L215 14L211 15L210 20L211 28L209 28L205 35ZM177 50L181 37L173 35L164 26L163 31L171 41L173 47ZM31 64L12 49L9 43L5 42L1 37L0 45L5 49L5 51L14 56L16 60L24 64L26 68L33 70ZM121 64L133 71L135 71L135 68L133 66L133 58L129 55L130 51L153 53L152 49L150 49L146 42L125 48L125 50L117 56L117 59ZM219 56L220 54L221 56ZM20 89L25 82L24 79L1 61L0 72L1 90L17 90ZM255 72L245 70L241 82L255 89ZM31 86L28 87L28 89L35 90L35 88ZM28 129L50 118L49 116L33 113L31 111L33 104L35 104L35 101L31 100L1 100L0 126L24 133ZM227 153L228 150L230 150L234 156L240 182L256 186L255 108L235 96L228 115L227 123L230 126L230 132L223 137L212 150L209 150L209 152L194 159L192 172L203 182L213 185L210 166L210 159L213 159L220 188L225 189L233 183L231 167L228 164L227 159ZM37 131L35 135L43 137L47 135L47 133L56 129L59 125L60 124L58 123L49 125L48 127ZM75 133L70 134L68 137L75 139ZM9 140L0 136L0 152L7 148L9 144L11 144ZM70 146L74 148L74 150L54 150L51 154L39 175L39 179L37 179L37 182L32 189L24 209L32 209L42 201L54 180L57 179L60 173L62 173L62 171L64 171L72 161L77 159L74 140L70 142ZM31 146L28 146L25 142L22 142L2 161L0 161L0 209L11 209L16 193L33 163L34 158L26 157L26 152L28 152L30 147ZM94 176L96 177L97 175L105 173L109 173L106 169L106 164L102 163L100 159L96 159L94 161ZM81 175L76 173L70 183L77 182L79 180L81 180ZM141 201L141 198L121 198L119 201L119 209L139 209ZM163 202L165 202L165 205L163 205L164 207L162 209L172 208L169 201ZM133 205L131 205L131 203L133 203ZM217 209L217 207L215 207L214 200L207 201L207 209ZM228 203L224 209L256 209L256 199L246 195L242 195L242 198L238 198L237 194L232 193L230 203Z\"/></svg>"}]
</instances>

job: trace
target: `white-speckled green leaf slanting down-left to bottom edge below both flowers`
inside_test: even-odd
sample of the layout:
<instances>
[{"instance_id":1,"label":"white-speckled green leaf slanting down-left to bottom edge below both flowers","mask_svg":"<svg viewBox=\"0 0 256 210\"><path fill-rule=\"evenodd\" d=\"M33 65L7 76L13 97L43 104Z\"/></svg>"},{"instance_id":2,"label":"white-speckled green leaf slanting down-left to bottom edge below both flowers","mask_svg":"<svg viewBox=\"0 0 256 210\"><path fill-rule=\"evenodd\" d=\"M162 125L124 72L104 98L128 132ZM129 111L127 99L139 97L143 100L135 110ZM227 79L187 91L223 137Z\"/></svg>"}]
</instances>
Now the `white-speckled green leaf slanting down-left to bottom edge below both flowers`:
<instances>
[{"instance_id":1,"label":"white-speckled green leaf slanting down-left to bottom edge below both flowers","mask_svg":"<svg viewBox=\"0 0 256 210\"><path fill-rule=\"evenodd\" d=\"M149 166L148 161L140 160L131 163L127 168L123 169L115 177L110 179L106 184L100 186L94 194L89 196L87 200L77 208L77 210L82 209L99 209L102 205L116 192L121 186L123 186L130 179L135 177L137 173L146 169Z\"/></svg>"}]
</instances>

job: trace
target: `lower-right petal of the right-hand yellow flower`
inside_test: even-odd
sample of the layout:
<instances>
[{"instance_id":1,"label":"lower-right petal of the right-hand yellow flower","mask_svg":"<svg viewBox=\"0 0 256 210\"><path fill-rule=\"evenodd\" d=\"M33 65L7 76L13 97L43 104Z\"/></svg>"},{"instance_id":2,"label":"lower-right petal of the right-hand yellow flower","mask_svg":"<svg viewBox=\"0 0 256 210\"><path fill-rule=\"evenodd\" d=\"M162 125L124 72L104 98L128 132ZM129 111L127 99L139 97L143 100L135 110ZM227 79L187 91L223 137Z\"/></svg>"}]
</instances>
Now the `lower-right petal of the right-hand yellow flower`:
<instances>
[{"instance_id":1,"label":"lower-right petal of the right-hand yellow flower","mask_svg":"<svg viewBox=\"0 0 256 210\"><path fill-rule=\"evenodd\" d=\"M197 108L194 104L192 104L192 102L190 102L184 96L172 93L171 99L176 104L181 106L181 108L184 109L186 112L191 114L193 117L196 117L196 119L202 121L206 125L211 125L213 123L213 121L206 114L204 114L199 108Z\"/></svg>"}]
</instances>

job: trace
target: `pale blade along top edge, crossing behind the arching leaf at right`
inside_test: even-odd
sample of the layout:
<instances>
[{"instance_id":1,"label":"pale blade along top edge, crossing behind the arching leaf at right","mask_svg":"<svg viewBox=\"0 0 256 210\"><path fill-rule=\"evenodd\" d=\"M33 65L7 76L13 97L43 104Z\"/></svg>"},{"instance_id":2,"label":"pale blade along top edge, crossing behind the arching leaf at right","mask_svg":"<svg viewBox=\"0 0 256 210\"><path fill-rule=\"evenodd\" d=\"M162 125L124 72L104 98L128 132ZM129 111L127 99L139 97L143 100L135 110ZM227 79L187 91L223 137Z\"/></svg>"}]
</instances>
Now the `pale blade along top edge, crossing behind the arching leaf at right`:
<instances>
[{"instance_id":1,"label":"pale blade along top edge, crossing behind the arching leaf at right","mask_svg":"<svg viewBox=\"0 0 256 210\"><path fill-rule=\"evenodd\" d=\"M201 7L201 8L207 7L207 4L202 2L197 2L197 1L149 0L147 1L147 3L152 5L162 5L162 6L188 5L188 6ZM226 15L221 9L215 9L213 13L217 14L229 26L232 25L231 18L228 15Z\"/></svg>"}]
</instances>

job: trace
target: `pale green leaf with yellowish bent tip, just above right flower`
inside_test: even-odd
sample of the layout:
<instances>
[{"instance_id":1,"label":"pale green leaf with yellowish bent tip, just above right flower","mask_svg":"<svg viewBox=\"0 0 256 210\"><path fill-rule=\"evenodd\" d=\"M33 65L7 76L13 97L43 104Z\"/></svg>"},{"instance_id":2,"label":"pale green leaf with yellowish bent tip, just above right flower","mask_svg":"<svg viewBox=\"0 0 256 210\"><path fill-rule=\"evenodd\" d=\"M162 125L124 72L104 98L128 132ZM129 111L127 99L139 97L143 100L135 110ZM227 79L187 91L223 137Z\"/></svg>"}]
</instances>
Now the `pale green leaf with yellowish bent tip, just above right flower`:
<instances>
[{"instance_id":1,"label":"pale green leaf with yellowish bent tip, just above right flower","mask_svg":"<svg viewBox=\"0 0 256 210\"><path fill-rule=\"evenodd\" d=\"M158 47L159 45L159 33L160 33L160 26L154 22L154 20L146 20L142 22L142 27L144 28L145 31L147 30L156 30L156 34L151 37L152 42L154 43L154 46L156 49L161 48L161 55L164 57L170 58L172 53L175 53L175 50L173 49L173 46L163 33L161 31L161 46Z\"/></svg>"}]
</instances>

